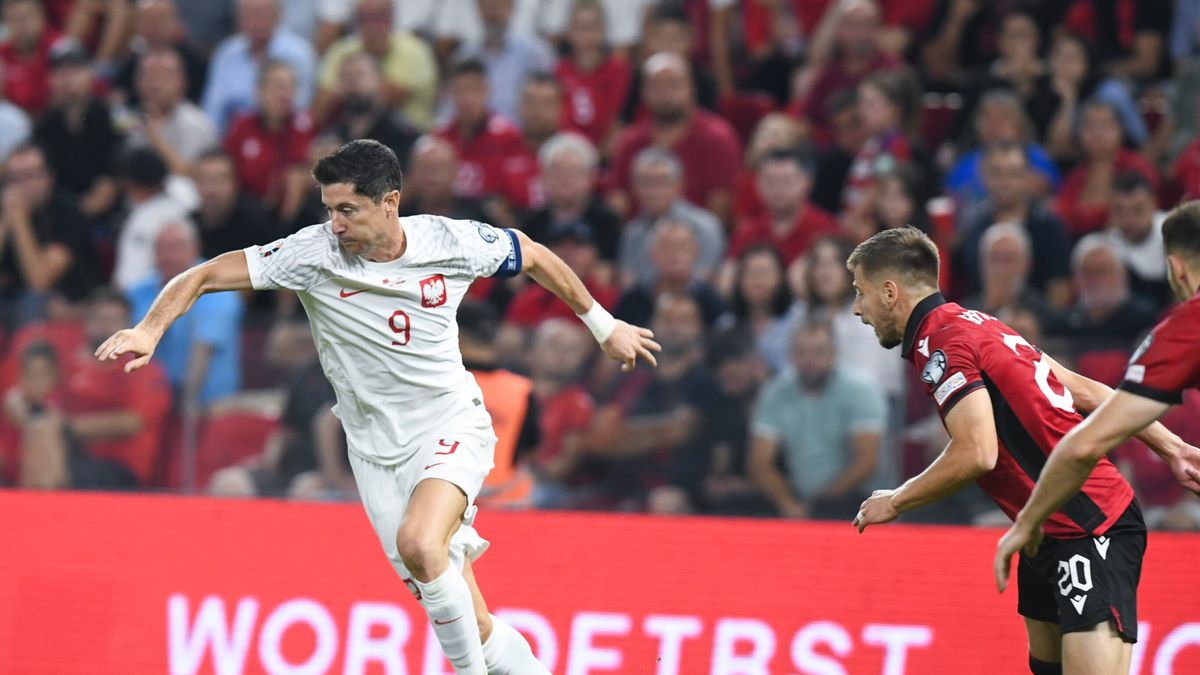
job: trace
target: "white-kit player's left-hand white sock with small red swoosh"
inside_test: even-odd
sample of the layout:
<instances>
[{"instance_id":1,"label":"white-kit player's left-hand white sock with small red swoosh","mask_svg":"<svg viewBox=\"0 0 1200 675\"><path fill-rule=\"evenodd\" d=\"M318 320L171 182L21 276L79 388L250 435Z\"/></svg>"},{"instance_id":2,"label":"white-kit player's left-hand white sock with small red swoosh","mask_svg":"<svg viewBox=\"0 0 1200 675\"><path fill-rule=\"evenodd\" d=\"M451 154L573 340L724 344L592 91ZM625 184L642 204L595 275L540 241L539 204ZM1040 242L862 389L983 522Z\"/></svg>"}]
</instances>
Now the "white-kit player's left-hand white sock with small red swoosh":
<instances>
[{"instance_id":1,"label":"white-kit player's left-hand white sock with small red swoosh","mask_svg":"<svg viewBox=\"0 0 1200 675\"><path fill-rule=\"evenodd\" d=\"M479 623L470 587L462 572L452 565L437 579L424 583L413 579L421 592L421 605L433 625L433 634L442 644L454 671L458 675L484 675L484 649L479 640Z\"/></svg>"}]
</instances>

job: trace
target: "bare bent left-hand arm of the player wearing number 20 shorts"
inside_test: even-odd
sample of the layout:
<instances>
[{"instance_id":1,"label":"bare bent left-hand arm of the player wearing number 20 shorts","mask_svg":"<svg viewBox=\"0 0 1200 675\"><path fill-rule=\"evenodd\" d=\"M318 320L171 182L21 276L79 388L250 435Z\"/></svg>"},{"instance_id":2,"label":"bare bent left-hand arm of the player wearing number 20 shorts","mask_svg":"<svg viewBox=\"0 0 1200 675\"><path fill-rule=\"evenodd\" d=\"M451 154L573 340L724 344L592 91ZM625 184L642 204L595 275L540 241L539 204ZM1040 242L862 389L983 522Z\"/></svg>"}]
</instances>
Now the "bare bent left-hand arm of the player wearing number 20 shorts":
<instances>
[{"instance_id":1,"label":"bare bent left-hand arm of the player wearing number 20 shorts","mask_svg":"<svg viewBox=\"0 0 1200 675\"><path fill-rule=\"evenodd\" d=\"M996 420L986 389L971 392L946 413L950 442L925 471L895 490L876 490L854 516L862 532L868 525L895 520L901 513L934 503L961 490L996 466L1000 448Z\"/></svg>"}]
</instances>

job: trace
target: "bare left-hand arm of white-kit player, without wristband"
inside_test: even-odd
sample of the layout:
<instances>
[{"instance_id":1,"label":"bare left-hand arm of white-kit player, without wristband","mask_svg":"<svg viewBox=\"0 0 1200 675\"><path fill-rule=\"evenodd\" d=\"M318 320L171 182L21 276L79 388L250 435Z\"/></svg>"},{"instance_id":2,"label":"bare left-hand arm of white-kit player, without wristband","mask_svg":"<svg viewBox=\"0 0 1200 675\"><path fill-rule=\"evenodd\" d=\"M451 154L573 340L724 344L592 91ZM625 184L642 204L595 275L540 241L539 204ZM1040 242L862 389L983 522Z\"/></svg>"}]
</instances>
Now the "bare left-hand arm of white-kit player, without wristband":
<instances>
[{"instance_id":1,"label":"bare left-hand arm of white-kit player, without wristband","mask_svg":"<svg viewBox=\"0 0 1200 675\"><path fill-rule=\"evenodd\" d=\"M150 363L162 334L190 310L200 295L248 288L251 288L250 268L246 265L244 252L232 251L200 263L172 279L155 298L145 318L133 328L118 330L104 340L104 344L96 350L96 358L113 360L122 354L133 353L138 358L125 364L125 372L133 372Z\"/></svg>"}]
</instances>

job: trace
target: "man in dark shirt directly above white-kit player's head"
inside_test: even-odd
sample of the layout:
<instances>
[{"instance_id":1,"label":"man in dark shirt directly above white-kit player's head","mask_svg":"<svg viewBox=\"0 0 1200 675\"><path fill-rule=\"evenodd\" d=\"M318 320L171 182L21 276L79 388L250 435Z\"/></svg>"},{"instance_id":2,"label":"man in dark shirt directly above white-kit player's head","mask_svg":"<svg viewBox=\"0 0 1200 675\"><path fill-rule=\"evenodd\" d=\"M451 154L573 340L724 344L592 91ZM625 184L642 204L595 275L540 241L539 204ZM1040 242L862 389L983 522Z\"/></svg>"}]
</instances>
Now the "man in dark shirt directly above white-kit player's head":
<instances>
[{"instance_id":1,"label":"man in dark shirt directly above white-kit player's head","mask_svg":"<svg viewBox=\"0 0 1200 675\"><path fill-rule=\"evenodd\" d=\"M326 56L328 58L328 56ZM340 59L340 76L334 80L340 114L329 125L340 138L370 138L391 148L401 167L408 168L408 155L420 136L416 127L391 108L383 86L379 66L364 50Z\"/></svg>"}]
</instances>

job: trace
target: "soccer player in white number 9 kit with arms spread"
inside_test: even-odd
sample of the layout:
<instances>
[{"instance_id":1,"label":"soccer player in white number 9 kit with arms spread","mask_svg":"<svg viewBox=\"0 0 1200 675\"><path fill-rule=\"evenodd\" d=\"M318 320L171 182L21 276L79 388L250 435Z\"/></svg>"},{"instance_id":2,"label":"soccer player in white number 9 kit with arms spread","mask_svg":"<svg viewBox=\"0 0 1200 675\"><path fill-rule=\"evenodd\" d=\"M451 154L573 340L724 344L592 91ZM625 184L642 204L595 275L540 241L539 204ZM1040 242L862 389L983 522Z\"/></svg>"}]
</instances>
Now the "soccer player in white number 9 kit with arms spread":
<instances>
[{"instance_id":1,"label":"soccer player in white number 9 kit with arms spread","mask_svg":"<svg viewBox=\"0 0 1200 675\"><path fill-rule=\"evenodd\" d=\"M470 569L487 548L472 522L496 436L462 365L458 303L476 277L524 273L570 305L623 370L637 359L655 365L660 347L649 330L616 321L560 258L521 232L401 219L400 162L379 143L350 142L313 175L330 221L180 274L138 325L114 334L96 356L132 353L125 366L132 371L204 293L295 291L337 393L334 412L362 504L455 671L548 675L524 638L487 613Z\"/></svg>"}]
</instances>

